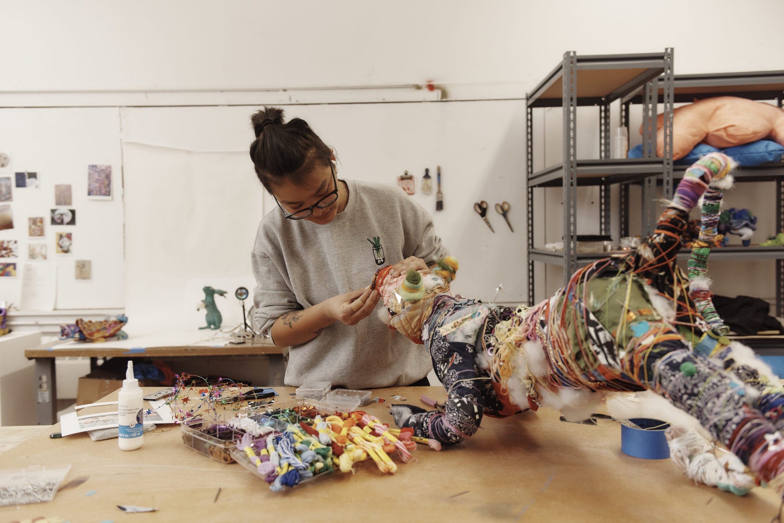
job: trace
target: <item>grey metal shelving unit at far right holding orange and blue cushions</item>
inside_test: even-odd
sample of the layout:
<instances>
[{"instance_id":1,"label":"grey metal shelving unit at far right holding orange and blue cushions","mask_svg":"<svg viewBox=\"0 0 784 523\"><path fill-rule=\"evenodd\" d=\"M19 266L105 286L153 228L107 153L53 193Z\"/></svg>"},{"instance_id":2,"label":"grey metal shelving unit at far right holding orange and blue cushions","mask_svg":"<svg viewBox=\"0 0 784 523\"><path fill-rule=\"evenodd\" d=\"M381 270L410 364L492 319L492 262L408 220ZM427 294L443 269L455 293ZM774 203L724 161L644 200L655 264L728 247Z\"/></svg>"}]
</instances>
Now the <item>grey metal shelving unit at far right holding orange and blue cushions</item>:
<instances>
[{"instance_id":1,"label":"grey metal shelving unit at far right holding orange and blue cushions","mask_svg":"<svg viewBox=\"0 0 784 523\"><path fill-rule=\"evenodd\" d=\"M666 98L666 78L658 80L658 100ZM741 73L677 74L673 78L673 93L676 103L690 103L714 96L739 96L748 100L776 100L779 107L784 102L784 71L751 71ZM650 93L635 89L621 97L622 125L629 127L630 104L646 104ZM645 122L644 124L645 125ZM673 179L680 180L688 165L675 165ZM776 232L784 232L784 162L742 167L733 173L738 183L775 182L776 184ZM653 180L643 181L643 198L646 190L651 191ZM621 185L621 235L629 235L629 185ZM647 187L648 186L648 187ZM650 193L648 193L650 194ZM648 200L650 198L648 197ZM650 215L650 206L644 206L643 223L655 223ZM645 228L645 227L644 227ZM687 254L679 254L687 257ZM598 259L597 256L594 259ZM776 260L776 315L784 313L784 248L782 247L724 247L710 254L711 260ZM583 260L582 258L580 260ZM593 261L593 260L590 260ZM589 263L586 261L585 263Z\"/></svg>"}]
</instances>

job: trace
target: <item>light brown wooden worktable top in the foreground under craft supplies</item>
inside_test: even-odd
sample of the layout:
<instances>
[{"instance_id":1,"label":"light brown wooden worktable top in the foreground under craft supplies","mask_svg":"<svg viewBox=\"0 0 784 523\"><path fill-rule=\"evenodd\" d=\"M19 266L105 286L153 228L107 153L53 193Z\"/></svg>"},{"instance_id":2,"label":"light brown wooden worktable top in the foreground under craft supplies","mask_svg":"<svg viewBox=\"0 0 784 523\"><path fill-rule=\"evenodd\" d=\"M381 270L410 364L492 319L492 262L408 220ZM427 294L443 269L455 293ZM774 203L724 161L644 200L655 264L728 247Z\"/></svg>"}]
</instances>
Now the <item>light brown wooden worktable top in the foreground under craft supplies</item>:
<instances>
[{"instance_id":1,"label":"light brown wooden worktable top in the foreground under craft supplies","mask_svg":"<svg viewBox=\"0 0 784 523\"><path fill-rule=\"evenodd\" d=\"M154 390L154 389L149 389ZM278 387L280 399L291 388ZM374 390L443 401L441 387ZM117 398L116 392L103 401ZM364 409L391 423L388 405ZM240 465L224 465L187 449L179 427L147 434L133 452L117 440L87 434L50 439L52 430L0 455L0 469L71 463L64 482L89 478L58 492L51 503L0 508L0 521L59 516L71 521L764 521L779 511L774 492L737 497L696 486L670 459L636 459L620 450L620 426L563 423L550 409L511 419L482 420L468 441L443 452L423 445L418 463L383 476L375 466L356 474L275 494ZM218 488L220 496L215 499ZM93 496L86 496L89 491ZM124 514L118 504L158 507ZM274 518L274 519L273 519Z\"/></svg>"}]
</instances>

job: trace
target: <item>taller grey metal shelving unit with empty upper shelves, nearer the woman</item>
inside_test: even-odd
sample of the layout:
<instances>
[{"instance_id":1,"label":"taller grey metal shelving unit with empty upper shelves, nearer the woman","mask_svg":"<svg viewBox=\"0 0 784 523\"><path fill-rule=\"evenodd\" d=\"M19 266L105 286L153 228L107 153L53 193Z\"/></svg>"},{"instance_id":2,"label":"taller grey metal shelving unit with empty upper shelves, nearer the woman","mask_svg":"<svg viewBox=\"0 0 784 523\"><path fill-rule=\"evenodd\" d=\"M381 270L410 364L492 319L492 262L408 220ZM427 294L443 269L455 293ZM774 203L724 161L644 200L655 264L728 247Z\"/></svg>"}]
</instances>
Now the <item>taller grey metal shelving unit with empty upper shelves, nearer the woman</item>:
<instances>
[{"instance_id":1,"label":"taller grey metal shelving unit with empty upper shelves, nearer the woman","mask_svg":"<svg viewBox=\"0 0 784 523\"><path fill-rule=\"evenodd\" d=\"M662 77L662 104L665 118L665 157L656 158L656 116L658 78ZM643 158L610 158L610 104L637 92L643 93ZM673 193L672 111L673 49L663 53L586 55L564 53L564 59L539 85L527 94L527 175L528 175L528 303L534 303L534 263L555 263L564 267L564 282L579 267L577 253L577 187L601 187L599 220L601 234L610 231L610 185L651 180L662 176L666 197ZM600 158L576 158L577 107L599 108ZM563 162L536 173L533 171L533 110L563 107ZM622 105L628 111L628 105ZM534 189L563 187L564 251L534 249ZM648 198L650 200L650 198ZM628 191L626 194L628 202ZM546 254L545 254L546 253Z\"/></svg>"}]
</instances>

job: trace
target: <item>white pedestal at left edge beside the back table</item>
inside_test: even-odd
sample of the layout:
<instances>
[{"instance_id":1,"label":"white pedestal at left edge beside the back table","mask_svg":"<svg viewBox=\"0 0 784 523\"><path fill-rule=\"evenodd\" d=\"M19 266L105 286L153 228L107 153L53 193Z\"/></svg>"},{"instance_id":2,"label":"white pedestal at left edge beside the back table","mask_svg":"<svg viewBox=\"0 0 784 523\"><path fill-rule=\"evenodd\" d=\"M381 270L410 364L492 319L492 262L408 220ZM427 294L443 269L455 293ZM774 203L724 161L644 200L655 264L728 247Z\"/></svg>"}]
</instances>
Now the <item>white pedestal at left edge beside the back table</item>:
<instances>
[{"instance_id":1,"label":"white pedestal at left edge beside the back table","mask_svg":"<svg viewBox=\"0 0 784 523\"><path fill-rule=\"evenodd\" d=\"M0 425L35 425L34 362L24 351L41 345L41 332L0 336Z\"/></svg>"}]
</instances>

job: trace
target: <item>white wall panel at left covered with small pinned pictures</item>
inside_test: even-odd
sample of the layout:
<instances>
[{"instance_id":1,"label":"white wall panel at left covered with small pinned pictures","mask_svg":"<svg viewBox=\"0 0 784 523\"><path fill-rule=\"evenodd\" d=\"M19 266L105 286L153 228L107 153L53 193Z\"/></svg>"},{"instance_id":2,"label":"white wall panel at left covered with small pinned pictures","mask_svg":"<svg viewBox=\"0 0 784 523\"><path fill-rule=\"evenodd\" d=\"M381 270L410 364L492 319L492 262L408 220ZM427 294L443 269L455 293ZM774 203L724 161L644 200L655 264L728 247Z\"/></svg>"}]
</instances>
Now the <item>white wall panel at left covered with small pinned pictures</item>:
<instances>
[{"instance_id":1,"label":"white wall panel at left covered with small pinned pictures","mask_svg":"<svg viewBox=\"0 0 784 523\"><path fill-rule=\"evenodd\" d=\"M57 309L122 307L123 216L122 159L119 139L120 115L116 107L59 107L0 109L0 148L9 151L11 164L0 176L14 172L38 173L39 188L13 188L13 229L0 231L0 239L19 242L16 278L0 278L0 300L20 307L24 266L56 267ZM87 166L111 165L111 201L89 200ZM70 184L76 225L50 225L55 209L54 186ZM16 183L14 183L16 185ZM43 238L27 238L27 218L44 217ZM73 235L71 254L56 254L56 232ZM47 260L28 260L30 243L47 245ZM92 279L74 278L75 260L92 262Z\"/></svg>"}]
</instances>

